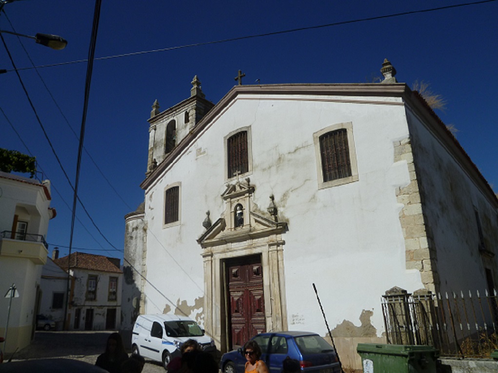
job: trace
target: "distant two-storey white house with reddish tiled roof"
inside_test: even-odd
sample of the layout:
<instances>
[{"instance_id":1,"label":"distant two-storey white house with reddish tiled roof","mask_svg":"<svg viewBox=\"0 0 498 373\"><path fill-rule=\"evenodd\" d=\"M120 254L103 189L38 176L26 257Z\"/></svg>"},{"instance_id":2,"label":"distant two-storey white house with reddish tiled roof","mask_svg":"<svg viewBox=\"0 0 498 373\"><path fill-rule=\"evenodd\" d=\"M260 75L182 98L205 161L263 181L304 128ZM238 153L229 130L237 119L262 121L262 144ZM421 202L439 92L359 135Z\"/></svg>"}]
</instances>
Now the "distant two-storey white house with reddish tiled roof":
<instances>
[{"instance_id":1,"label":"distant two-storey white house with reddish tiled roof","mask_svg":"<svg viewBox=\"0 0 498 373\"><path fill-rule=\"evenodd\" d=\"M123 271L120 259L74 252L53 260L73 277L69 295L69 330L116 330L121 324Z\"/></svg>"}]
</instances>

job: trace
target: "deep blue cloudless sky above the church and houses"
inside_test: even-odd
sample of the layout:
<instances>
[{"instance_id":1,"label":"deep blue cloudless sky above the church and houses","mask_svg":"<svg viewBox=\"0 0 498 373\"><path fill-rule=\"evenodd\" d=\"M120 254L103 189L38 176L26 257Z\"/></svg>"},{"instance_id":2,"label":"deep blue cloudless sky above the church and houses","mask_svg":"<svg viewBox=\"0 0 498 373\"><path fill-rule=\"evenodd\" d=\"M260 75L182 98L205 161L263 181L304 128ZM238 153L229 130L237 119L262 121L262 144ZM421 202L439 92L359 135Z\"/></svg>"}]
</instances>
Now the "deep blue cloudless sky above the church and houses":
<instances>
[{"instance_id":1,"label":"deep blue cloudless sky above the church and houses","mask_svg":"<svg viewBox=\"0 0 498 373\"><path fill-rule=\"evenodd\" d=\"M95 56L165 49L463 3L104 0ZM94 6L94 1L22 0L6 4L4 10L19 33L53 33L68 40L64 50L55 51L22 38L34 65L44 66L87 58ZM84 140L93 161L87 152L83 153L79 196L107 240L122 250L124 215L134 211L143 200L139 184L146 170L147 119L155 99L162 111L188 98L190 82L198 75L206 98L217 103L236 84L234 77L239 69L246 74L244 84L253 84L256 79L261 84L372 82L380 76L384 58L396 68L399 82L412 86L423 80L447 100L446 110L437 114L444 123L458 129L457 139L498 191L497 19L498 1L491 1L97 60ZM0 15L0 29L12 30L8 20ZM7 34L3 37L16 67L31 67L19 40ZM3 45L0 69L9 70L0 75L0 108L6 116L0 112L0 147L35 155L43 177L51 180L52 207L56 208L57 217L50 222L47 242L50 249L58 246L65 255L70 237L72 190L15 72L11 71ZM78 140L71 128L80 133L86 69L86 63L72 63L19 71L73 183ZM79 221L75 224L73 250L123 256L98 233L81 206L76 215ZM199 232L203 218L197 217Z\"/></svg>"}]
</instances>

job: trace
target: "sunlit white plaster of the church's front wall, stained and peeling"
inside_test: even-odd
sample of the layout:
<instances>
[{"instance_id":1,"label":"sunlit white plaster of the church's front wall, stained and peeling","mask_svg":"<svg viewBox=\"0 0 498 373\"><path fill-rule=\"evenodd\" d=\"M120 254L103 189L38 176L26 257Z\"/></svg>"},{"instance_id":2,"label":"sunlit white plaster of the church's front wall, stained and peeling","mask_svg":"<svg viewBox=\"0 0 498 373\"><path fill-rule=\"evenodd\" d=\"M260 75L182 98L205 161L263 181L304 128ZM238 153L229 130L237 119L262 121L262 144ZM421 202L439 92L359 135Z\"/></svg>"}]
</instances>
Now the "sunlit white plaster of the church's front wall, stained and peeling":
<instances>
[{"instance_id":1,"label":"sunlit white plaster of the church's front wall, stained and peeling","mask_svg":"<svg viewBox=\"0 0 498 373\"><path fill-rule=\"evenodd\" d=\"M273 194L279 221L289 225L282 235L288 329L323 331L314 282L332 328L344 320L361 325L358 316L369 310L374 338L380 337L380 295L394 285L423 286L420 272L406 269L396 200L396 188L410 183L407 163L394 161L393 143L408 136L401 99L273 98L239 96L146 190L147 278L164 296L146 284L145 312L176 312L183 302L192 318L204 311L191 308L204 296L202 251L194 240L204 232L205 212L215 221L225 209L223 138L249 126L253 202L264 211ZM359 181L319 190L313 133L346 122L353 124ZM164 189L179 181L181 224L163 228Z\"/></svg>"}]
</instances>

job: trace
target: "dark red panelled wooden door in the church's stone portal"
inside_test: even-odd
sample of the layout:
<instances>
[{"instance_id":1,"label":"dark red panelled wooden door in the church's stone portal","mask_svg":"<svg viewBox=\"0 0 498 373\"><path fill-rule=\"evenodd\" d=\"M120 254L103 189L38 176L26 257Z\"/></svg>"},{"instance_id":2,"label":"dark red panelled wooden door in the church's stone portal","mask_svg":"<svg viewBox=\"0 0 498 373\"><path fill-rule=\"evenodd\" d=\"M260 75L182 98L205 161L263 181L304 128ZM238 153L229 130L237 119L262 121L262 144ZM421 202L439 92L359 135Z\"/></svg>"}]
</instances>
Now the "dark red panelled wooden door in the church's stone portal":
<instances>
[{"instance_id":1,"label":"dark red panelled wooden door in the church's stone portal","mask_svg":"<svg viewBox=\"0 0 498 373\"><path fill-rule=\"evenodd\" d=\"M266 330L261 257L230 259L226 268L230 345L237 348Z\"/></svg>"}]
</instances>

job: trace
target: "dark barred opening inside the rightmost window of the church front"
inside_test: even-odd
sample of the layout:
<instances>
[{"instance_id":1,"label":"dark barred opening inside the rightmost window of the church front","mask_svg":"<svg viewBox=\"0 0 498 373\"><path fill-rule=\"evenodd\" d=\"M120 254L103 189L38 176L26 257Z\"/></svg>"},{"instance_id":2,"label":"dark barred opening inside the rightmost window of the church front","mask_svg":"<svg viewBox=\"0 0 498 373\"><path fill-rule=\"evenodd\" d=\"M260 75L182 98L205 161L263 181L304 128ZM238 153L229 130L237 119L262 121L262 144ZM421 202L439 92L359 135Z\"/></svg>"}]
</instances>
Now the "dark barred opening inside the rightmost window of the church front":
<instances>
[{"instance_id":1,"label":"dark barred opening inside the rightmost window of the church front","mask_svg":"<svg viewBox=\"0 0 498 373\"><path fill-rule=\"evenodd\" d=\"M320 136L320 155L324 182L352 175L348 130L346 128L327 132Z\"/></svg>"}]
</instances>

